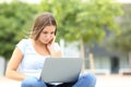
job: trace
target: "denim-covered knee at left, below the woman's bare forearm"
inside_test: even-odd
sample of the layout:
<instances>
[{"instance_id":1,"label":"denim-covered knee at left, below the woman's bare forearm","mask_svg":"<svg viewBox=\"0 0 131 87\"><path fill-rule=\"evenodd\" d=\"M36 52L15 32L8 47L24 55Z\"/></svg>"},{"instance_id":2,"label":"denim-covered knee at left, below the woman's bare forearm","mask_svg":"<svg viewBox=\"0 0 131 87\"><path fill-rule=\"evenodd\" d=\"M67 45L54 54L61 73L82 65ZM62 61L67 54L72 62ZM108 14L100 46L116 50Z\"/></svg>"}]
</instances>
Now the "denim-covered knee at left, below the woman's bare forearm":
<instances>
[{"instance_id":1,"label":"denim-covered knee at left, below the woman's bare forearm","mask_svg":"<svg viewBox=\"0 0 131 87\"><path fill-rule=\"evenodd\" d=\"M22 82L21 87L46 87L46 85L36 77L27 77Z\"/></svg>"}]
</instances>

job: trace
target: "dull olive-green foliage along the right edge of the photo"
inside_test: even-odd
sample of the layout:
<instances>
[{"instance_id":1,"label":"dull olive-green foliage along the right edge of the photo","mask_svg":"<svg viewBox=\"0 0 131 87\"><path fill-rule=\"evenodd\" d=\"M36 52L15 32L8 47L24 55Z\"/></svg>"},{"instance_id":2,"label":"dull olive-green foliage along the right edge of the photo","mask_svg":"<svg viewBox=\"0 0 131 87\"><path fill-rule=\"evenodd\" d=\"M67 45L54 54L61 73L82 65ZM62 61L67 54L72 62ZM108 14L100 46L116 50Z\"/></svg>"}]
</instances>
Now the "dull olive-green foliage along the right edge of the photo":
<instances>
[{"instance_id":1,"label":"dull olive-green foliage along the right edge of the photo","mask_svg":"<svg viewBox=\"0 0 131 87\"><path fill-rule=\"evenodd\" d=\"M111 49L120 50L123 52L131 51L131 5L123 4L122 10L124 14L119 17L121 34L114 35L109 39Z\"/></svg>"}]
</instances>

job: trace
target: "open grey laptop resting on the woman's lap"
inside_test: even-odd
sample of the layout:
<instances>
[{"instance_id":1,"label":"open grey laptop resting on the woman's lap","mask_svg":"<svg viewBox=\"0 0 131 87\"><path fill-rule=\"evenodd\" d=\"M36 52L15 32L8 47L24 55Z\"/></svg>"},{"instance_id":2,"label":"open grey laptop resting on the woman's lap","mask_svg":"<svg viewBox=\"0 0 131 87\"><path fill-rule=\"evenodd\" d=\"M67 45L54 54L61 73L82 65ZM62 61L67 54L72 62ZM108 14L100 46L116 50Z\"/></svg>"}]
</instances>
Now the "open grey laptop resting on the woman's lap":
<instances>
[{"instance_id":1,"label":"open grey laptop resting on the woman's lap","mask_svg":"<svg viewBox=\"0 0 131 87\"><path fill-rule=\"evenodd\" d=\"M78 80L81 69L81 58L47 58L40 78L45 83L73 83Z\"/></svg>"}]
</instances>

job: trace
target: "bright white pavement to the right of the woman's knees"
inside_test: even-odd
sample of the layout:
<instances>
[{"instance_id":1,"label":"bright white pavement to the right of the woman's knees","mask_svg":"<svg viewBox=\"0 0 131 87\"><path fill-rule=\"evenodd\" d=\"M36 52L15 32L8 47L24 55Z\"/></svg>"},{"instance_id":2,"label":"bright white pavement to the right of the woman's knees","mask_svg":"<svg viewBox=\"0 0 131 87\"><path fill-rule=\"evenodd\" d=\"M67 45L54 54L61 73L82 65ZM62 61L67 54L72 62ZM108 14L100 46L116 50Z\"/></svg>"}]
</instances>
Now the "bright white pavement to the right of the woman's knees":
<instances>
[{"instance_id":1,"label":"bright white pavement to the right of the woman's knees","mask_svg":"<svg viewBox=\"0 0 131 87\"><path fill-rule=\"evenodd\" d=\"M131 87L131 75L99 75L96 77L96 87Z\"/></svg>"}]
</instances>

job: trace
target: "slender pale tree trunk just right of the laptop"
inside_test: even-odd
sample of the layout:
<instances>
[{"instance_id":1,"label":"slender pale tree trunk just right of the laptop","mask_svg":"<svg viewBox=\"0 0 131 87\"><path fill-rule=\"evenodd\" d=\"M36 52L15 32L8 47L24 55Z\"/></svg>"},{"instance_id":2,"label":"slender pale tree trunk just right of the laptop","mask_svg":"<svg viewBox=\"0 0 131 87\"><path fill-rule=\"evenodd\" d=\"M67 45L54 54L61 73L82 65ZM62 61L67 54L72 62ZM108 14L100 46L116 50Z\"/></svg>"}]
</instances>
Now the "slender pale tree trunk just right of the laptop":
<instances>
[{"instance_id":1,"label":"slender pale tree trunk just right of the laptop","mask_svg":"<svg viewBox=\"0 0 131 87\"><path fill-rule=\"evenodd\" d=\"M82 73L85 71L85 49L84 49L84 41L81 39L81 58L83 60L83 65L82 65Z\"/></svg>"}]
</instances>

